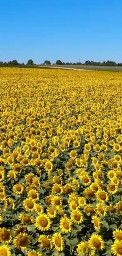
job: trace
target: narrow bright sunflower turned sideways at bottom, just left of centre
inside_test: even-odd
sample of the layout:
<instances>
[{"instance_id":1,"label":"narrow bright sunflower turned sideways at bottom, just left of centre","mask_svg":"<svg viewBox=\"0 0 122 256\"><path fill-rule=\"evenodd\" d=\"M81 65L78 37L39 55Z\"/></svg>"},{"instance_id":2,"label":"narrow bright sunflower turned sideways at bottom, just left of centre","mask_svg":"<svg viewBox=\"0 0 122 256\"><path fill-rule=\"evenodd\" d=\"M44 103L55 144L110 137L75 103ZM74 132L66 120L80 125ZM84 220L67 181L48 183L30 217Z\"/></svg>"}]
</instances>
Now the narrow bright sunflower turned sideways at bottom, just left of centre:
<instances>
[{"instance_id":1,"label":"narrow bright sunflower turned sideways at bottom, just left of centre","mask_svg":"<svg viewBox=\"0 0 122 256\"><path fill-rule=\"evenodd\" d=\"M52 236L52 243L56 251L63 251L64 240L60 233L54 233L54 235Z\"/></svg>"}]
</instances>

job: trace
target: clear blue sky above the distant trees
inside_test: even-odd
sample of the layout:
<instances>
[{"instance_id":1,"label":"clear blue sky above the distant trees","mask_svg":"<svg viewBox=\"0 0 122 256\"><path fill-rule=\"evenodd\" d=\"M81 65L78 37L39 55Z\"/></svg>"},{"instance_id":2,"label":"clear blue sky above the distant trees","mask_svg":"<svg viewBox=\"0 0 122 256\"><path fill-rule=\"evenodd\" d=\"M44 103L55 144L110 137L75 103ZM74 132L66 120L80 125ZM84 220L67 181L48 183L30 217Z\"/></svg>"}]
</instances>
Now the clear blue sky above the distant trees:
<instances>
[{"instance_id":1,"label":"clear blue sky above the distant trees","mask_svg":"<svg viewBox=\"0 0 122 256\"><path fill-rule=\"evenodd\" d=\"M0 61L122 62L122 0L0 0Z\"/></svg>"}]
</instances>

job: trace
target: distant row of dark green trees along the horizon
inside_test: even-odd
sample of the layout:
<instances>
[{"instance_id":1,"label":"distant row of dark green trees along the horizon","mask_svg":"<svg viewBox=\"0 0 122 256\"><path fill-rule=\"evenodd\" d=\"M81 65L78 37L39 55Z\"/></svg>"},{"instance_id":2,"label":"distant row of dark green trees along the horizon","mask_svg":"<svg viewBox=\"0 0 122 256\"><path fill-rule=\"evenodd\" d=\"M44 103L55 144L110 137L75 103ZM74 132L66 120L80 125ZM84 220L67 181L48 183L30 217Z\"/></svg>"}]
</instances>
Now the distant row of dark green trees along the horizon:
<instances>
[{"instance_id":1,"label":"distant row of dark green trees along the horizon","mask_svg":"<svg viewBox=\"0 0 122 256\"><path fill-rule=\"evenodd\" d=\"M12 60L12 61L8 61L7 62L3 62L3 61L0 61L0 65L24 65L24 62L23 63L18 63L17 60ZM27 65L34 65L34 62L32 59L29 59L28 62L27 62ZM51 62L49 60L45 60L44 63L41 63L41 65L51 65ZM116 63L115 61L103 61L103 62L96 62L96 61L90 61L90 60L87 60L85 61L85 63L81 63L81 62L62 62L60 59L58 59L56 61L56 63L53 63L53 65L87 65L87 66L113 66L113 67L122 67L122 63Z\"/></svg>"}]
</instances>

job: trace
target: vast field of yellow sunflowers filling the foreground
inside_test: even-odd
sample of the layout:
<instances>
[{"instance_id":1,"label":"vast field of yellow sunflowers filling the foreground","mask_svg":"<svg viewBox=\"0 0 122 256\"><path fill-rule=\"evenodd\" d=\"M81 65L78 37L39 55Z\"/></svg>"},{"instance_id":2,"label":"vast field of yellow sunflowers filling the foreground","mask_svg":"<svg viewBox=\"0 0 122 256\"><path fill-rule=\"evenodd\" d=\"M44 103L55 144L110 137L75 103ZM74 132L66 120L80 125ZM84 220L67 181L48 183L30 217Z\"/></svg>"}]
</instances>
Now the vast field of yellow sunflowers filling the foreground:
<instances>
[{"instance_id":1,"label":"vast field of yellow sunflowers filling the foreground","mask_svg":"<svg viewBox=\"0 0 122 256\"><path fill-rule=\"evenodd\" d=\"M0 256L122 255L122 74L0 68Z\"/></svg>"}]
</instances>

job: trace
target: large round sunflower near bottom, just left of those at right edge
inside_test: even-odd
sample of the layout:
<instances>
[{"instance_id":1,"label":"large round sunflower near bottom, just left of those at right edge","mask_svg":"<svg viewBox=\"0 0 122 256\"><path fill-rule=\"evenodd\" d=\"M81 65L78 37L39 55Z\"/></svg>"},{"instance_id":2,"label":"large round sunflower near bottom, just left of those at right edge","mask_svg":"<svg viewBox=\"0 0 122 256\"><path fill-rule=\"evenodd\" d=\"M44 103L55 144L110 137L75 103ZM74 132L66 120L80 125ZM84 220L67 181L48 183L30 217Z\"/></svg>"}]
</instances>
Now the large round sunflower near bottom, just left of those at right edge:
<instances>
[{"instance_id":1,"label":"large round sunflower near bottom, just left of those at right edge","mask_svg":"<svg viewBox=\"0 0 122 256\"><path fill-rule=\"evenodd\" d=\"M104 241L100 235L92 234L89 239L89 246L91 249L102 250L104 248Z\"/></svg>"}]
</instances>

